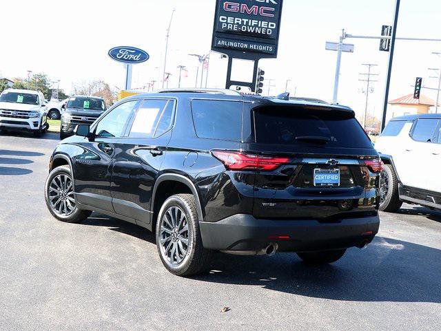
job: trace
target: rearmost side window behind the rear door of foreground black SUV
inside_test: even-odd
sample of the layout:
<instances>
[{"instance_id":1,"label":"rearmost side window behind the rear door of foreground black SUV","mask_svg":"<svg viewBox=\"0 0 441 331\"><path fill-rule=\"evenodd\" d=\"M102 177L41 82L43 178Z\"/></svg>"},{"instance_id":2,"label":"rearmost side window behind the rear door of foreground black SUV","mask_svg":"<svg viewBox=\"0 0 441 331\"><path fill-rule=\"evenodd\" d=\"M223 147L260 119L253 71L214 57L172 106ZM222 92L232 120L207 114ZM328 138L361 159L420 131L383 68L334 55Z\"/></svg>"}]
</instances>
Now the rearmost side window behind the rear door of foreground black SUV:
<instances>
[{"instance_id":1,"label":"rearmost side window behind the rear door of foreground black SUV","mask_svg":"<svg viewBox=\"0 0 441 331\"><path fill-rule=\"evenodd\" d=\"M193 100L192 113L198 137L232 141L241 140L241 102Z\"/></svg>"}]
</instances>

